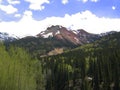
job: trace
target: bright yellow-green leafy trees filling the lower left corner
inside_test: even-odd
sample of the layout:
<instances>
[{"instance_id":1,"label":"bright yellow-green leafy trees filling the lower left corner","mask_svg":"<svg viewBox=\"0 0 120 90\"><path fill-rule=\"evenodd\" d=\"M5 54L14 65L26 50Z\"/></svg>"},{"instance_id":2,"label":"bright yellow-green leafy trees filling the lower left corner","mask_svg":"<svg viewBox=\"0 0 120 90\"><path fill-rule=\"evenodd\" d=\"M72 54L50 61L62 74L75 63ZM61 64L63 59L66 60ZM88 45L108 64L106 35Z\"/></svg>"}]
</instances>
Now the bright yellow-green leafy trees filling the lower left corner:
<instances>
[{"instance_id":1,"label":"bright yellow-green leafy trees filling the lower left corner","mask_svg":"<svg viewBox=\"0 0 120 90\"><path fill-rule=\"evenodd\" d=\"M41 63L23 49L0 44L0 90L44 90Z\"/></svg>"}]
</instances>

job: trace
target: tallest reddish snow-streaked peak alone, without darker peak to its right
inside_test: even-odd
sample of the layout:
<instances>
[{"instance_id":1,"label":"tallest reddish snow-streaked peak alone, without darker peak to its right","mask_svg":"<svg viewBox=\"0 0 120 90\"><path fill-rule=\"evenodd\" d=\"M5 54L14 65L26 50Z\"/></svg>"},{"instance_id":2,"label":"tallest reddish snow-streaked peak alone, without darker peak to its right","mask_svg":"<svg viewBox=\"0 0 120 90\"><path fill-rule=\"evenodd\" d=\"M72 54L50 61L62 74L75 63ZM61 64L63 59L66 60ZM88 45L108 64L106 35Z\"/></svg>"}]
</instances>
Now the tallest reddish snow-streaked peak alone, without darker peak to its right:
<instances>
[{"instance_id":1,"label":"tallest reddish snow-streaked peak alone, without darker peak to its right","mask_svg":"<svg viewBox=\"0 0 120 90\"><path fill-rule=\"evenodd\" d=\"M41 36L43 38L55 37L58 40L67 40L76 45L82 44L76 34L59 25L48 27L47 30L39 33L37 36Z\"/></svg>"}]
</instances>

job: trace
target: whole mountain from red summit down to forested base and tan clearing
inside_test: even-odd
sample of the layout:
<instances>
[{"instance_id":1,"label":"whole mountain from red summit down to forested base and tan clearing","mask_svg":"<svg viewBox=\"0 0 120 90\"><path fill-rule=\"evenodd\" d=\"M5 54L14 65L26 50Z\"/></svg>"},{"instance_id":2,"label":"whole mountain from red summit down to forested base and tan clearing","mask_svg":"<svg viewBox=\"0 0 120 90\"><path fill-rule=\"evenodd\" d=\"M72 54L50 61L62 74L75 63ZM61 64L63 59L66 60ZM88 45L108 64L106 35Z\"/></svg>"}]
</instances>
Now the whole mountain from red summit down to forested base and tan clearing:
<instances>
[{"instance_id":1,"label":"whole mountain from red summit down to forested base and tan clearing","mask_svg":"<svg viewBox=\"0 0 120 90\"><path fill-rule=\"evenodd\" d=\"M33 56L37 55L40 57L60 54L66 50L100 40L110 34L112 35L113 33L107 32L105 35L92 34L83 29L68 30L65 27L56 25L48 27L37 36L27 36L10 42L10 44L25 48Z\"/></svg>"}]
</instances>

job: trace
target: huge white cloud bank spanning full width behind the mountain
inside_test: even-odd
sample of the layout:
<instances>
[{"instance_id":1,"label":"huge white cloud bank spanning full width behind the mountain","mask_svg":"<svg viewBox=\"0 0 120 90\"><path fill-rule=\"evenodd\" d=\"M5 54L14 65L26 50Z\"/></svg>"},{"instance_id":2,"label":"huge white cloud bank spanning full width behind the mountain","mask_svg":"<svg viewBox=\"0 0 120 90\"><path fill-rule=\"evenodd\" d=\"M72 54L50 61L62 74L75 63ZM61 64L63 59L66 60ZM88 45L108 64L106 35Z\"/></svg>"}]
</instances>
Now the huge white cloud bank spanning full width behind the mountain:
<instances>
[{"instance_id":1,"label":"huge white cloud bank spanning full width behind the mountain","mask_svg":"<svg viewBox=\"0 0 120 90\"><path fill-rule=\"evenodd\" d=\"M18 22L0 22L0 32L13 33L18 36L36 35L50 25L62 25L72 29L85 29L91 33L102 33L111 30L120 31L120 18L100 18L84 11L73 15L66 14L64 17L47 17L36 21L32 18L31 11L25 11L22 19Z\"/></svg>"}]
</instances>

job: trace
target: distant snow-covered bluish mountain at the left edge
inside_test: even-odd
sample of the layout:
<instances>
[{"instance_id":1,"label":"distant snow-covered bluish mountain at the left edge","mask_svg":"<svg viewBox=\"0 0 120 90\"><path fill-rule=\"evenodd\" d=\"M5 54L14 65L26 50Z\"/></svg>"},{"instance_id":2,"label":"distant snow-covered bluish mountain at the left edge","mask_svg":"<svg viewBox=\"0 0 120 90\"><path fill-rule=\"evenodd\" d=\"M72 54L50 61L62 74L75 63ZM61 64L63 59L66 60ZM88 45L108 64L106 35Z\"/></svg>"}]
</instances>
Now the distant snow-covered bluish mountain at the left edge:
<instances>
[{"instance_id":1,"label":"distant snow-covered bluish mountain at the left edge","mask_svg":"<svg viewBox=\"0 0 120 90\"><path fill-rule=\"evenodd\" d=\"M10 35L8 33L5 32L0 32L0 41L4 41L4 42L11 42L18 39L17 36L15 35Z\"/></svg>"}]
</instances>

